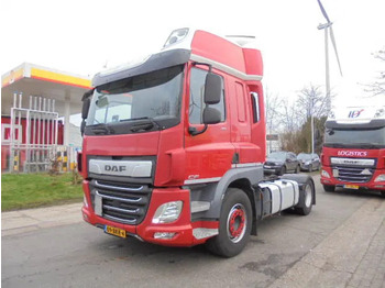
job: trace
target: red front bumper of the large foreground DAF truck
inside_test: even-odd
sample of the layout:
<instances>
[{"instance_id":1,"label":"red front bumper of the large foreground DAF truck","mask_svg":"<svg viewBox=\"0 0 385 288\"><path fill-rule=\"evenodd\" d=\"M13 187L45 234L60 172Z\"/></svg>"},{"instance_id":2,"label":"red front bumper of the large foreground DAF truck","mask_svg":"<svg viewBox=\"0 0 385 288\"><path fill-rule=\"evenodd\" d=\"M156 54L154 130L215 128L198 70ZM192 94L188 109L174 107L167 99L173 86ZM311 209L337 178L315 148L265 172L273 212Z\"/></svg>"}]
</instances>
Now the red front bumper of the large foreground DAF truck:
<instances>
[{"instance_id":1,"label":"red front bumper of the large foreground DAF truck","mask_svg":"<svg viewBox=\"0 0 385 288\"><path fill-rule=\"evenodd\" d=\"M127 235L134 236L145 242L166 246L194 246L205 243L208 236L215 235L212 231L218 231L218 221L191 222L190 191L188 189L167 188L153 189L147 213L144 220L138 225L122 224L107 220L95 213L89 191L89 182L84 180L85 201L82 218L86 222L98 228L106 225L123 229ZM156 209L166 202L183 201L183 209L179 218L172 223L153 223ZM155 237L155 233L175 233L172 239ZM207 232L207 233L206 233ZM205 234L206 233L206 234Z\"/></svg>"}]
</instances>

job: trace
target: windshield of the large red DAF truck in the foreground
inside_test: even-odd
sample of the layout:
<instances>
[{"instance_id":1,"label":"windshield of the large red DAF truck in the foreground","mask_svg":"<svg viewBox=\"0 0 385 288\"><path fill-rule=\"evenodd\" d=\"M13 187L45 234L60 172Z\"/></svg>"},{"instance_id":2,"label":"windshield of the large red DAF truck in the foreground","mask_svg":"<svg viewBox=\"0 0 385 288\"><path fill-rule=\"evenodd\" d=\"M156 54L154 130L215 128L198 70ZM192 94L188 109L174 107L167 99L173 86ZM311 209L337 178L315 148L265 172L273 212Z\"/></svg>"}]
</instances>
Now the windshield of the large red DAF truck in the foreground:
<instances>
[{"instance_id":1,"label":"windshield of the large red DAF truck in the foreground","mask_svg":"<svg viewBox=\"0 0 385 288\"><path fill-rule=\"evenodd\" d=\"M142 125L148 121L151 129L176 125L180 118L183 69L179 65L97 87L86 126L113 126L117 131L136 120ZM139 130L131 130L135 131Z\"/></svg>"}]
</instances>

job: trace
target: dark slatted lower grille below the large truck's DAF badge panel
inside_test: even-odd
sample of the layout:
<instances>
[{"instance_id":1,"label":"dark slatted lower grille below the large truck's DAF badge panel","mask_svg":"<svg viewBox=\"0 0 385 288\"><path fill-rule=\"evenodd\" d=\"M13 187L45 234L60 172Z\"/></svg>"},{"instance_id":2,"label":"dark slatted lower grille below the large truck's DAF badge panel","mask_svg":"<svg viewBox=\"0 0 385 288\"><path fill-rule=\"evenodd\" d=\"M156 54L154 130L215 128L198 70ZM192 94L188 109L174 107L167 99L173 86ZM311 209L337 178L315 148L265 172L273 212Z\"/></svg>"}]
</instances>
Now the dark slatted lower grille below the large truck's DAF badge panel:
<instances>
[{"instance_id":1,"label":"dark slatted lower grille below the large truck's DAF badge panel","mask_svg":"<svg viewBox=\"0 0 385 288\"><path fill-rule=\"evenodd\" d=\"M123 224L140 224L148 209L152 188L147 185L127 185L91 180L92 208L105 219Z\"/></svg>"}]
</instances>

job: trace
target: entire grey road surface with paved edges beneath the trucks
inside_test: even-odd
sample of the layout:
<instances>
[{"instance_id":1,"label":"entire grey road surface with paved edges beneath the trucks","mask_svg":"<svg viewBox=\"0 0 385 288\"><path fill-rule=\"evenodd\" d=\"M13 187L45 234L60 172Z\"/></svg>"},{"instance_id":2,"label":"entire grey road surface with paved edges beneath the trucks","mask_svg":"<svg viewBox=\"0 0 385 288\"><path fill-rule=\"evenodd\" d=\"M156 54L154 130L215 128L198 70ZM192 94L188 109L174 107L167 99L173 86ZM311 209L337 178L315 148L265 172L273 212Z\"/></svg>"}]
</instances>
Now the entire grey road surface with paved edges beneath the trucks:
<instances>
[{"instance_id":1,"label":"entire grey road surface with paved edges beneath the trucks","mask_svg":"<svg viewBox=\"0 0 385 288\"><path fill-rule=\"evenodd\" d=\"M263 221L233 258L106 235L82 222L80 203L2 213L2 286L384 287L384 199L315 180L308 217Z\"/></svg>"}]
</instances>

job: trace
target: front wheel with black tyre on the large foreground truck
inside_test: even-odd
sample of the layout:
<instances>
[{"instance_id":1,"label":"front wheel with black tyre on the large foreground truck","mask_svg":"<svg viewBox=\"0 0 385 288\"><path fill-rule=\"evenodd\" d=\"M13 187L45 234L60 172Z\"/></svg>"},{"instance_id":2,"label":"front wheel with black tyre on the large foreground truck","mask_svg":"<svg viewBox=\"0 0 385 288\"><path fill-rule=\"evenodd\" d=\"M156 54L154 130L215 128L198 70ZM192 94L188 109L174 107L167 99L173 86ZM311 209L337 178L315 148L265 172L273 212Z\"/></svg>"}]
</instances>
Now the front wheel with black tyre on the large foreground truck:
<instances>
[{"instance_id":1,"label":"front wheel with black tyre on the large foreground truck","mask_svg":"<svg viewBox=\"0 0 385 288\"><path fill-rule=\"evenodd\" d=\"M229 188L222 201L219 234L209 239L206 247L222 257L242 252L250 239L252 208L249 197L238 188Z\"/></svg>"}]
</instances>

